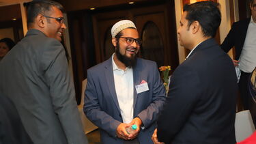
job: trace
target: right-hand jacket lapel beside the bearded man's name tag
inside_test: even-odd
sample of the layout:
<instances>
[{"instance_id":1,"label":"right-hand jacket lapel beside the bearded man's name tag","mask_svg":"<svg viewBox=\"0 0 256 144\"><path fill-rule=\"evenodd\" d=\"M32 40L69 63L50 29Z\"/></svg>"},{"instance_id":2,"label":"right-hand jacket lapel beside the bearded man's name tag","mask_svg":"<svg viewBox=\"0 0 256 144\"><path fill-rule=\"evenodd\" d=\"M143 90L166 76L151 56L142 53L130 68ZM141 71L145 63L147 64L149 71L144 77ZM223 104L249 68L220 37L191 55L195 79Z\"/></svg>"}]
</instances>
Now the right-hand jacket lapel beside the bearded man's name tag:
<instances>
[{"instance_id":1,"label":"right-hand jacket lapel beside the bearded man's name tag","mask_svg":"<svg viewBox=\"0 0 256 144\"><path fill-rule=\"evenodd\" d=\"M139 85L141 83L141 70L140 66L139 66L139 59L137 59L137 63L136 66L134 66L134 68L132 68L132 72L133 72L133 108L135 108L136 102L137 102L137 91L135 88L135 85Z\"/></svg>"}]
</instances>

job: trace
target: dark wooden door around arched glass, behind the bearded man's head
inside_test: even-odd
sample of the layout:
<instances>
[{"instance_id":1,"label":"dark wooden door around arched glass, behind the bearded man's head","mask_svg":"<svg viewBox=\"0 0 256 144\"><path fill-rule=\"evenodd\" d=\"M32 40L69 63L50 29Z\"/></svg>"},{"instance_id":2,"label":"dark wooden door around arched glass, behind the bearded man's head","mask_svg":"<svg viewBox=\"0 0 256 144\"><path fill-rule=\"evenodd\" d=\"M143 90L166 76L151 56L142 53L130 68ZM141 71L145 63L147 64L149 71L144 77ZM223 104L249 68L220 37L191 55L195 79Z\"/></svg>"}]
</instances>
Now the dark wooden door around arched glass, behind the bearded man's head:
<instances>
[{"instance_id":1,"label":"dark wooden door around arched glass, behind the bearded man's head","mask_svg":"<svg viewBox=\"0 0 256 144\"><path fill-rule=\"evenodd\" d=\"M106 31L117 21L129 19L134 21L139 31L139 35L142 34L143 27L147 22L152 21L157 25L165 47L163 56L165 59L165 65L170 65L173 69L175 69L178 66L179 59L177 54L177 35L175 29L174 8L174 1L171 1L164 4L160 3L158 5L146 6L141 5L139 8L93 14L94 42L96 44L97 63L100 63L106 59L104 58L104 35L106 35Z\"/></svg>"}]
</instances>

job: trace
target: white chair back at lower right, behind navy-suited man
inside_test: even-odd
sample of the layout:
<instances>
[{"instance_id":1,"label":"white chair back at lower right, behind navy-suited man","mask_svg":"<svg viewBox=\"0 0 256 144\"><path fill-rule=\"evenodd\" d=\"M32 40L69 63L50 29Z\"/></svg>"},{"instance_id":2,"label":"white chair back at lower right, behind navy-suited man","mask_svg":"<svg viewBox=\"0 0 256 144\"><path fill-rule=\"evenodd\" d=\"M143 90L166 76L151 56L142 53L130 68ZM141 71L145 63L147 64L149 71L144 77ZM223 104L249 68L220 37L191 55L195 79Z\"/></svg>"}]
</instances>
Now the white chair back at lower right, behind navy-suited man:
<instances>
[{"instance_id":1,"label":"white chair back at lower right, behind navy-suited man","mask_svg":"<svg viewBox=\"0 0 256 144\"><path fill-rule=\"evenodd\" d=\"M243 141L253 134L255 126L250 111L246 110L236 113L235 131L237 142Z\"/></svg>"}]
</instances>

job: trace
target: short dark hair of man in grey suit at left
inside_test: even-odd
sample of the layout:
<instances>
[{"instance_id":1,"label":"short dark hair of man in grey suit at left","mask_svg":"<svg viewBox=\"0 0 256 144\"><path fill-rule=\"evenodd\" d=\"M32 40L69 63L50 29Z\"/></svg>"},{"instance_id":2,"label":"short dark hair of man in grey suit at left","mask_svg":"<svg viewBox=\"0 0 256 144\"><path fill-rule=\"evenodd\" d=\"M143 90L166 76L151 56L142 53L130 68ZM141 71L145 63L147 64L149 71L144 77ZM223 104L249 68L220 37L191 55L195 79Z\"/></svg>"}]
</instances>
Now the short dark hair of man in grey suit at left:
<instances>
[{"instance_id":1,"label":"short dark hair of man in grey suit at left","mask_svg":"<svg viewBox=\"0 0 256 144\"><path fill-rule=\"evenodd\" d=\"M58 8L61 12L64 12L64 8L60 3L51 0L33 0L28 6L27 25L34 23L35 17L38 16L38 14L46 16L51 12L53 6Z\"/></svg>"}]
</instances>

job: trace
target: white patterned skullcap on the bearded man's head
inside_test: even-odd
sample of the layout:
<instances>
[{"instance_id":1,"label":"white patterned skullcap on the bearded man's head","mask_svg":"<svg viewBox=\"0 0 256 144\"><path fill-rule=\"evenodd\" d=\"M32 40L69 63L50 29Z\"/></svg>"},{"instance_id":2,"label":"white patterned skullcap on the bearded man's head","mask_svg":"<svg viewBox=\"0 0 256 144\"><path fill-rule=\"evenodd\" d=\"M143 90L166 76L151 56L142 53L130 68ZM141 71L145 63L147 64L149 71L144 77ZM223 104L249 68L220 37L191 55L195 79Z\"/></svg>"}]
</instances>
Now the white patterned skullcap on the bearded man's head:
<instances>
[{"instance_id":1,"label":"white patterned skullcap on the bearded man's head","mask_svg":"<svg viewBox=\"0 0 256 144\"><path fill-rule=\"evenodd\" d=\"M137 29L131 20L120 20L119 22L115 23L115 25L113 25L111 29L112 38L115 38L115 35L117 35L117 33L128 27L133 27Z\"/></svg>"}]
</instances>

